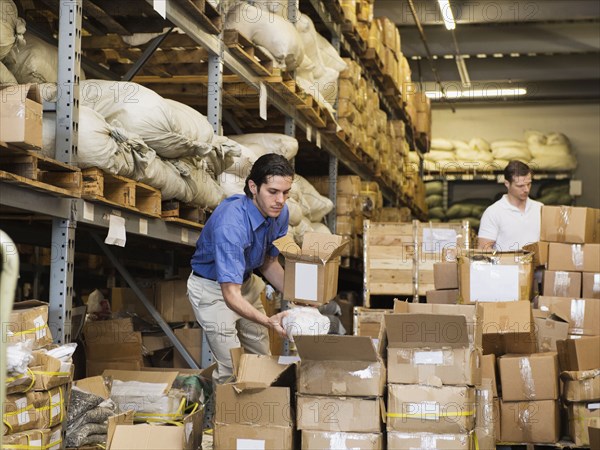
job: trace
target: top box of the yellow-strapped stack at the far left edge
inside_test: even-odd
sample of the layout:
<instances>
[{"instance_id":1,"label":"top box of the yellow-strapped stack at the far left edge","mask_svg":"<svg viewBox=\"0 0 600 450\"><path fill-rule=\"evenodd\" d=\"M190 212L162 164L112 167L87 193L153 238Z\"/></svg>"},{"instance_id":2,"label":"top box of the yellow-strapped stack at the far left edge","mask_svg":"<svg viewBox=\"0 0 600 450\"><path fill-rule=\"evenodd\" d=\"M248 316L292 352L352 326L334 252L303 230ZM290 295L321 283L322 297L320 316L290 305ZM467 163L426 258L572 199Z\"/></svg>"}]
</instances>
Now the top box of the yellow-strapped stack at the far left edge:
<instances>
[{"instance_id":1,"label":"top box of the yellow-strapped stack at the far left edge","mask_svg":"<svg viewBox=\"0 0 600 450\"><path fill-rule=\"evenodd\" d=\"M2 92L2 91L0 91ZM33 341L33 349L52 344L52 334L48 327L48 303L39 300L26 300L13 304L6 329L6 342Z\"/></svg>"}]
</instances>

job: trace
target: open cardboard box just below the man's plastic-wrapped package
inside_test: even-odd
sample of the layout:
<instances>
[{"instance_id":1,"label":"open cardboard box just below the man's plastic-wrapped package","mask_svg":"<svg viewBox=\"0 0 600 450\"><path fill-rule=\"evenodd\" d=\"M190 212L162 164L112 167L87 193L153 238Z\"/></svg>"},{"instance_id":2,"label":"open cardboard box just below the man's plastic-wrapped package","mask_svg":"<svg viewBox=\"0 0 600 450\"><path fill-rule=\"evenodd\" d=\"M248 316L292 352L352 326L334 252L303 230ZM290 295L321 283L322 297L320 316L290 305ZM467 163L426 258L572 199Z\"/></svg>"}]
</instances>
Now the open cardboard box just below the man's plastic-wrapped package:
<instances>
[{"instance_id":1,"label":"open cardboard box just below the man's plastic-wrapped package","mask_svg":"<svg viewBox=\"0 0 600 450\"><path fill-rule=\"evenodd\" d=\"M298 393L381 396L385 364L366 336L296 336Z\"/></svg>"}]
</instances>

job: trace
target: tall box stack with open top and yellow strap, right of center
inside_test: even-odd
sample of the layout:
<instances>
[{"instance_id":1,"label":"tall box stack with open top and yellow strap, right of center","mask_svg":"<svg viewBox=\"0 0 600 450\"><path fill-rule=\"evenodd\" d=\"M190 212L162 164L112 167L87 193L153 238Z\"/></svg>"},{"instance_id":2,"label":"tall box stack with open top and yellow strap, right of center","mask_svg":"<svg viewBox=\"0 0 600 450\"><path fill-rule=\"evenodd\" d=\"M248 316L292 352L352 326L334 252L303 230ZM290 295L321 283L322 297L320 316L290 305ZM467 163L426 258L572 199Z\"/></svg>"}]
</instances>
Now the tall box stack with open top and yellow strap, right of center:
<instances>
[{"instance_id":1,"label":"tall box stack with open top and yellow strap, right of center","mask_svg":"<svg viewBox=\"0 0 600 450\"><path fill-rule=\"evenodd\" d=\"M388 449L472 448L481 310L397 302L388 339Z\"/></svg>"}]
</instances>

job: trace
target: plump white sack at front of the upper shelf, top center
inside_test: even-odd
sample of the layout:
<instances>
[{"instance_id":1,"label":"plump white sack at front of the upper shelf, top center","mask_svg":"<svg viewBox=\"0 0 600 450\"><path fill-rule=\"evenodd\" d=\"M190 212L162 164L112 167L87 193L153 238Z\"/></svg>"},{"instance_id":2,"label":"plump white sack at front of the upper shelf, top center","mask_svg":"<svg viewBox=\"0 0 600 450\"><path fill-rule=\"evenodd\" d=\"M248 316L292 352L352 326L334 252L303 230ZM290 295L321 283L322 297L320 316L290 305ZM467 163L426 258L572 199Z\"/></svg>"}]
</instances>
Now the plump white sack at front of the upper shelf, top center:
<instances>
[{"instance_id":1,"label":"plump white sack at front of the upper shelf, top center","mask_svg":"<svg viewBox=\"0 0 600 450\"><path fill-rule=\"evenodd\" d=\"M265 14L248 3L239 3L229 10L225 29L237 30L265 47L287 70L296 69L304 57L302 40L292 23L277 14Z\"/></svg>"}]
</instances>

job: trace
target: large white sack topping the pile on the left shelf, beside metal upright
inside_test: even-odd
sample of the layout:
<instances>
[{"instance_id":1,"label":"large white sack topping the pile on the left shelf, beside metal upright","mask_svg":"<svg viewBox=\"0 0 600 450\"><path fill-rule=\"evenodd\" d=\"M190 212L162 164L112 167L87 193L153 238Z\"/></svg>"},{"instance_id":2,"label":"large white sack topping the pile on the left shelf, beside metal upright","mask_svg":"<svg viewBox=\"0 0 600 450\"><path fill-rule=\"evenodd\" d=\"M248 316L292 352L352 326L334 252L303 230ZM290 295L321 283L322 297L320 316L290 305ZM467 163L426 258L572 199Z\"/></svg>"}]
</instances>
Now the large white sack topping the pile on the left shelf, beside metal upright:
<instances>
[{"instance_id":1,"label":"large white sack topping the pile on the left shelf, beside metal upright","mask_svg":"<svg viewBox=\"0 0 600 450\"><path fill-rule=\"evenodd\" d=\"M190 122L183 108L173 108L156 92L137 83L87 80L81 82L81 104L99 112L108 122L118 120L125 129L138 134L163 158L205 155L211 149L208 134L197 122ZM191 133L191 134L186 134Z\"/></svg>"}]
</instances>

